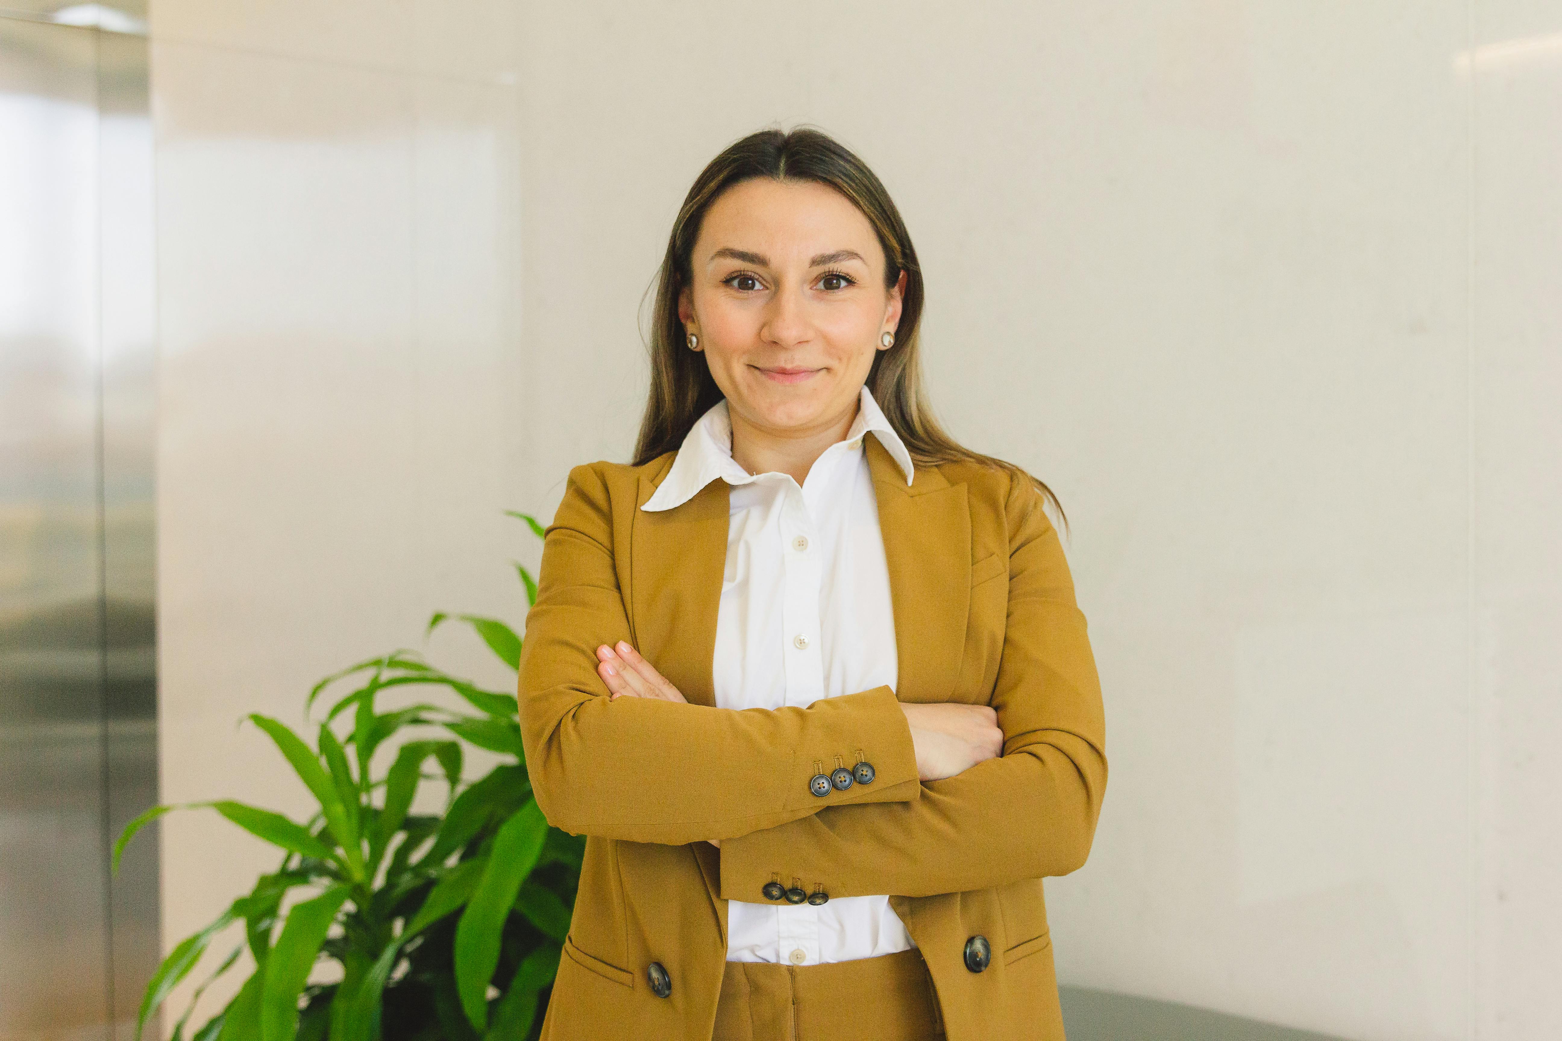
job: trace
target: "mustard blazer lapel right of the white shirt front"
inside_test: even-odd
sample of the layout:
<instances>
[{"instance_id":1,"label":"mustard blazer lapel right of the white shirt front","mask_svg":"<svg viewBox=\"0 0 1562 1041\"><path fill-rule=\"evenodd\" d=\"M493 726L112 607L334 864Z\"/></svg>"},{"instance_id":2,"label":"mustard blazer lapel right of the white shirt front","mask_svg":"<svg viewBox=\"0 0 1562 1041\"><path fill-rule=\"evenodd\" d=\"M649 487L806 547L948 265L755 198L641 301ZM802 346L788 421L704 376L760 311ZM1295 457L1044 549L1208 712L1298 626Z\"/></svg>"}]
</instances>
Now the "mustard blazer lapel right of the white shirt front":
<instances>
[{"instance_id":1,"label":"mustard blazer lapel right of the white shirt front","mask_svg":"<svg viewBox=\"0 0 1562 1041\"><path fill-rule=\"evenodd\" d=\"M972 593L972 515L965 485L917 467L911 487L900 465L865 437L895 610L900 701L950 701L965 649Z\"/></svg>"}]
</instances>

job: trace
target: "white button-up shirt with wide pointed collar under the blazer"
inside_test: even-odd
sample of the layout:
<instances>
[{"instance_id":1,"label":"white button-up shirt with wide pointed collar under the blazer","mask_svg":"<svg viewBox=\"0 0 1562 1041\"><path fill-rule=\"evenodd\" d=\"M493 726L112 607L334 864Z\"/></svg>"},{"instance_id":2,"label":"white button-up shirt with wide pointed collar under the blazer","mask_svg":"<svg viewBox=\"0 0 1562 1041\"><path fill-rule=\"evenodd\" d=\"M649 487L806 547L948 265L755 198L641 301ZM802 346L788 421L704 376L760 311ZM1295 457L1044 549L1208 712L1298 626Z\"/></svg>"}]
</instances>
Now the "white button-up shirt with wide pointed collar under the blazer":
<instances>
[{"instance_id":1,"label":"white button-up shirt with wide pointed collar under the blazer","mask_svg":"<svg viewBox=\"0 0 1562 1041\"><path fill-rule=\"evenodd\" d=\"M911 484L911 453L862 387L845 440L826 448L798 487L790 474L750 476L733 460L723 400L694 425L640 507L673 509L717 478L733 485L711 670L717 707L806 707L895 687L889 565L862 445L870 431ZM915 946L887 896L818 907L729 901L726 913L728 961L818 965Z\"/></svg>"}]
</instances>

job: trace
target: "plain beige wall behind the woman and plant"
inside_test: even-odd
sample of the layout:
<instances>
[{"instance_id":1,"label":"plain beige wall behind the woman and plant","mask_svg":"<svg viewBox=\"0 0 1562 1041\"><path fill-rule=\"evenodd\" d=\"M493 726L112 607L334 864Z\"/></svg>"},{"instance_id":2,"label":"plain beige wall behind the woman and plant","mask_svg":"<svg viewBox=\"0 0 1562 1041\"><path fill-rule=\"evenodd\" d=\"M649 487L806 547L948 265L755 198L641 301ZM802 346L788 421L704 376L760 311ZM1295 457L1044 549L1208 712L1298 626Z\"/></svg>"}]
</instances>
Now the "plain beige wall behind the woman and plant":
<instances>
[{"instance_id":1,"label":"plain beige wall behind the woman and plant","mask_svg":"<svg viewBox=\"0 0 1562 1041\"><path fill-rule=\"evenodd\" d=\"M1562 1032L1554 0L152 14L166 798L301 805L241 713L520 618L498 510L626 457L683 192L806 120L906 215L940 414L1073 521L1062 980ZM170 940L264 863L230 830L170 822Z\"/></svg>"}]
</instances>

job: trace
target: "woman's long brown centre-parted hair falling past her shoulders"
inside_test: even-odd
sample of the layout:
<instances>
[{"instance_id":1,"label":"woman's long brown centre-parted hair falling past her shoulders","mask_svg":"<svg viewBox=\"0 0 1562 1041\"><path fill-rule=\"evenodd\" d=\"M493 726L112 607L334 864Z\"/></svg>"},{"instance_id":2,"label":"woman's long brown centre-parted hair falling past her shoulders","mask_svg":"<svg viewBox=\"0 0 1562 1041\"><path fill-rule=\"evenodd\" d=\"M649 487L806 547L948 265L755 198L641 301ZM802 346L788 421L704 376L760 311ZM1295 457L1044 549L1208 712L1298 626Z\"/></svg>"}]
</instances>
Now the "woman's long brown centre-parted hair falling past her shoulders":
<instances>
[{"instance_id":1,"label":"woman's long brown centre-parted hair falling past her shoulders","mask_svg":"<svg viewBox=\"0 0 1562 1041\"><path fill-rule=\"evenodd\" d=\"M922 267L911 233L900 219L884 184L850 148L811 126L792 131L761 130L728 145L695 178L678 209L667 254L656 279L651 317L651 389L634 445L634 465L675 451L704 412L722 400L704 354L684 348L678 297L692 281L690 258L706 211L726 189L751 178L814 181L826 184L862 211L884 248L884 286L890 289L906 273L895 345L875 351L867 387L895 434L920 465L975 462L1011 471L1031 481L1067 524L1053 490L1020 467L975 453L950 437L933 415L922 378Z\"/></svg>"}]
</instances>

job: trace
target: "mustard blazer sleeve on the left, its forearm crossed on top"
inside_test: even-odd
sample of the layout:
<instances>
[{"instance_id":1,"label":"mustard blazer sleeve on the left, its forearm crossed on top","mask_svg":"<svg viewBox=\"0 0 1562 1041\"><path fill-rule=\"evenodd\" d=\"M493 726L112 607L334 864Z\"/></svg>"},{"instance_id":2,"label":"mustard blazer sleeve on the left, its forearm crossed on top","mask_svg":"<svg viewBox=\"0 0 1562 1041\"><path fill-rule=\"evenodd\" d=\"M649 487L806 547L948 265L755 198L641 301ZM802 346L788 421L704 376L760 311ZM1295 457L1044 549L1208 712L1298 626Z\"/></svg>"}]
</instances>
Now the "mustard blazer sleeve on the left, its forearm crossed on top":
<instances>
[{"instance_id":1,"label":"mustard blazer sleeve on the left, its forearm crossed on top","mask_svg":"<svg viewBox=\"0 0 1562 1041\"><path fill-rule=\"evenodd\" d=\"M517 680L526 771L550 824L684 844L776 827L823 805L920 798L911 727L889 687L808 709L609 701L595 648L629 638L614 549L608 481L576 467L545 532ZM815 798L814 762L854 749L873 749L886 783Z\"/></svg>"}]
</instances>

